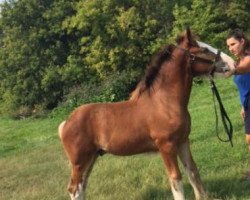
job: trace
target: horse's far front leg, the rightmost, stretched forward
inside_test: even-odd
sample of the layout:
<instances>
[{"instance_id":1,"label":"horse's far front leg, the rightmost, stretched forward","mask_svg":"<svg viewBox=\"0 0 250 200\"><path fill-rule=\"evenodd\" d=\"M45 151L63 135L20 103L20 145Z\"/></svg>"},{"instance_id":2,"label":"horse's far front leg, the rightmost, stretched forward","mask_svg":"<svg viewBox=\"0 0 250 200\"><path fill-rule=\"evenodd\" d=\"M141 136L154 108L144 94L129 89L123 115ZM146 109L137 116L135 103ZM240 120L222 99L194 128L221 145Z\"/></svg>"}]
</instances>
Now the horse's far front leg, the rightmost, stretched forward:
<instances>
[{"instance_id":1,"label":"horse's far front leg, the rightmost, stretched forward","mask_svg":"<svg viewBox=\"0 0 250 200\"><path fill-rule=\"evenodd\" d=\"M196 164L193 160L190 151L189 140L181 144L179 148L179 156L187 172L190 184L193 187L195 199L196 200L208 199L203 184L201 182L199 171L196 167Z\"/></svg>"}]
</instances>

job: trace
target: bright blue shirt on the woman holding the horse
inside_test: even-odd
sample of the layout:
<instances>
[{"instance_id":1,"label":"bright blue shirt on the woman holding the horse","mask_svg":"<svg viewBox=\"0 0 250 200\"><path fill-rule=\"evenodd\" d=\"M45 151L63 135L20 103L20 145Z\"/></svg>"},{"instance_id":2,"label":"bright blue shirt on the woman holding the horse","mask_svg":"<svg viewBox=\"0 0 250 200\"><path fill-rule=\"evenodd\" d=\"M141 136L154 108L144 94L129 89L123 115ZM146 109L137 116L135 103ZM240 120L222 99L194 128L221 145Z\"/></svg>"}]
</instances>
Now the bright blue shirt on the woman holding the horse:
<instances>
[{"instance_id":1,"label":"bright blue shirt on the woman holding the horse","mask_svg":"<svg viewBox=\"0 0 250 200\"><path fill-rule=\"evenodd\" d=\"M246 109L247 97L250 94L250 73L235 75L234 82L240 93L241 105Z\"/></svg>"}]
</instances>

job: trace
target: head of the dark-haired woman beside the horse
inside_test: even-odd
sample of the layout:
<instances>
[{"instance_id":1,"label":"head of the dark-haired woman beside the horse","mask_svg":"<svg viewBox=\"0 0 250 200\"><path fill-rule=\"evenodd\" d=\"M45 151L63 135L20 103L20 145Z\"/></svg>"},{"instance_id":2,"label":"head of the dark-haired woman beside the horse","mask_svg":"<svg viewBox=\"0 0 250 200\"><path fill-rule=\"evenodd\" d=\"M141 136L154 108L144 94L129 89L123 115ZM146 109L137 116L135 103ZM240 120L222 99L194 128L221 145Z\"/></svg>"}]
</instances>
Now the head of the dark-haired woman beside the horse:
<instances>
[{"instance_id":1,"label":"head of the dark-haired woman beside the horse","mask_svg":"<svg viewBox=\"0 0 250 200\"><path fill-rule=\"evenodd\" d=\"M229 51L237 57L244 56L250 50L250 41L240 29L232 30L227 37Z\"/></svg>"}]
</instances>

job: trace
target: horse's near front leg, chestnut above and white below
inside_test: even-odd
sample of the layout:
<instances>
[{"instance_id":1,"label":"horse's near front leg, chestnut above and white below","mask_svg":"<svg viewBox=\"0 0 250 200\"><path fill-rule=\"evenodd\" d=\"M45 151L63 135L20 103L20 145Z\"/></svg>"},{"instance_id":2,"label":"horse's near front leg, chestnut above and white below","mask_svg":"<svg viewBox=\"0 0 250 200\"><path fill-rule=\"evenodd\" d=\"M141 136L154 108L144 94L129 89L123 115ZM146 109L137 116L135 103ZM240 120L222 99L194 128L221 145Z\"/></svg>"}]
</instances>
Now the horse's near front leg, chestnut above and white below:
<instances>
[{"instance_id":1,"label":"horse's near front leg, chestnut above and white below","mask_svg":"<svg viewBox=\"0 0 250 200\"><path fill-rule=\"evenodd\" d=\"M175 200L185 200L181 173L177 161L177 148L173 143L167 142L158 145L164 160L169 177L171 190Z\"/></svg>"}]
</instances>

